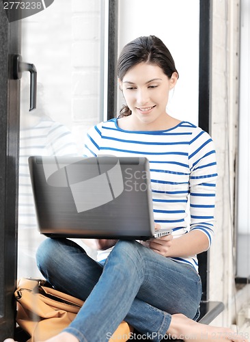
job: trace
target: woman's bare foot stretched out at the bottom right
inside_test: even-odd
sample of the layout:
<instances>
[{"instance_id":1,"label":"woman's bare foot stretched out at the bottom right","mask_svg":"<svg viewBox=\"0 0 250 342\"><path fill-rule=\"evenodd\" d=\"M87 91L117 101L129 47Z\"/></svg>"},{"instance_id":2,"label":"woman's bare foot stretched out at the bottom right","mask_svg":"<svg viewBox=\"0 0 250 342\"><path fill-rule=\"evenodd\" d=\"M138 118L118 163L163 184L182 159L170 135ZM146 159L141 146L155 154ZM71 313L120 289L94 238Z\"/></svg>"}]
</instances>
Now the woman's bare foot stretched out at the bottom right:
<instances>
[{"instance_id":1,"label":"woman's bare foot stretched out at the bottom right","mask_svg":"<svg viewBox=\"0 0 250 342\"><path fill-rule=\"evenodd\" d=\"M195 342L248 342L247 336L237 334L230 328L207 326L206 324L193 321L193 319L189 319L180 313L172 315L167 334L171 335L174 339L183 339L188 342L190 340L195 340Z\"/></svg>"}]
</instances>

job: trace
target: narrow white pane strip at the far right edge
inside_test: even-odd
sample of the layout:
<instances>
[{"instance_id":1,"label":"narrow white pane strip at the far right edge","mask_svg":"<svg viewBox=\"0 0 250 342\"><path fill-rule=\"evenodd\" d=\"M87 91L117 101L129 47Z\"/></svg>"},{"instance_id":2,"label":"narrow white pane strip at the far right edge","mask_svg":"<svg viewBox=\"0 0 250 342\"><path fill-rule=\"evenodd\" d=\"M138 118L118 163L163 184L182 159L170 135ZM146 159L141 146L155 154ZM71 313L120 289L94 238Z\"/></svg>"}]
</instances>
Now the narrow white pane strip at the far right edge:
<instances>
[{"instance_id":1,"label":"narrow white pane strip at the far right edge","mask_svg":"<svg viewBox=\"0 0 250 342\"><path fill-rule=\"evenodd\" d=\"M237 269L239 278L249 278L249 247L250 247L250 144L249 144L249 58L250 58L250 11L249 1L240 3L240 124L239 124L239 155L238 155L238 235L237 235Z\"/></svg>"}]
</instances>

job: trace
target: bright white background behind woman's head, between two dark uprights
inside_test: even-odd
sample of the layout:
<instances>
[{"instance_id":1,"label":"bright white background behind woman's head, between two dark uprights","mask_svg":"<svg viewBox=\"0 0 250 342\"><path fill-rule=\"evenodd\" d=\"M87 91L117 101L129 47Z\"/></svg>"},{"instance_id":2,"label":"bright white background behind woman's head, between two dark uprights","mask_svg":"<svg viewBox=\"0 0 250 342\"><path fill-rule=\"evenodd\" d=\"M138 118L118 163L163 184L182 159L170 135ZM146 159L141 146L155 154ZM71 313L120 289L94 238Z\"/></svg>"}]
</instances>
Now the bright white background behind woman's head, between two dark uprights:
<instances>
[{"instance_id":1,"label":"bright white background behind woman's head, between two dark uprights","mask_svg":"<svg viewBox=\"0 0 250 342\"><path fill-rule=\"evenodd\" d=\"M170 115L198 123L199 0L119 0L119 52L130 40L161 38L180 75L167 106ZM118 94L120 92L118 91ZM122 107L121 94L118 108Z\"/></svg>"}]
</instances>

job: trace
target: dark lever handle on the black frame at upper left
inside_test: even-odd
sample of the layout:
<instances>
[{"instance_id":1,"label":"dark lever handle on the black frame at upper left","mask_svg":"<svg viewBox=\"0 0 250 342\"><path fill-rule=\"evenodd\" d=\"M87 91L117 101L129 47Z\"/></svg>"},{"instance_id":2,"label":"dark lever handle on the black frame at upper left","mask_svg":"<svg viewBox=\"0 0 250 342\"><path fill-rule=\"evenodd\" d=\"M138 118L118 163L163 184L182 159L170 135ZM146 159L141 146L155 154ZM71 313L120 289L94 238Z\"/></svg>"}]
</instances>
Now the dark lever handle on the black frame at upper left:
<instances>
[{"instance_id":1,"label":"dark lever handle on the black frame at upper left","mask_svg":"<svg viewBox=\"0 0 250 342\"><path fill-rule=\"evenodd\" d=\"M36 108L37 71L34 64L23 62L21 55L12 55L12 78L21 79L23 71L30 73L29 111Z\"/></svg>"}]
</instances>

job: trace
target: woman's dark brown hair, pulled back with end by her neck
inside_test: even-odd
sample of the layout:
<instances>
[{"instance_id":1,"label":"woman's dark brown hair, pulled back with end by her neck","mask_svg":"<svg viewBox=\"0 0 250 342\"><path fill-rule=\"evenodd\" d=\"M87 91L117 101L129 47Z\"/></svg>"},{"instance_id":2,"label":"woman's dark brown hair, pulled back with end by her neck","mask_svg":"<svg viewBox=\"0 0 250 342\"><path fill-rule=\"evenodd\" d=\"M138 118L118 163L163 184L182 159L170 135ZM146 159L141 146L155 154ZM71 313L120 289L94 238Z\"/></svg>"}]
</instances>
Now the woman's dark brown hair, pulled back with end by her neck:
<instances>
[{"instance_id":1,"label":"woman's dark brown hair, pulled back with end by her neck","mask_svg":"<svg viewBox=\"0 0 250 342\"><path fill-rule=\"evenodd\" d=\"M174 72L178 73L169 49L156 36L139 37L125 45L117 61L117 76L122 81L130 68L142 62L156 64L169 79ZM124 105L120 117L130 114L131 110Z\"/></svg>"}]
</instances>

